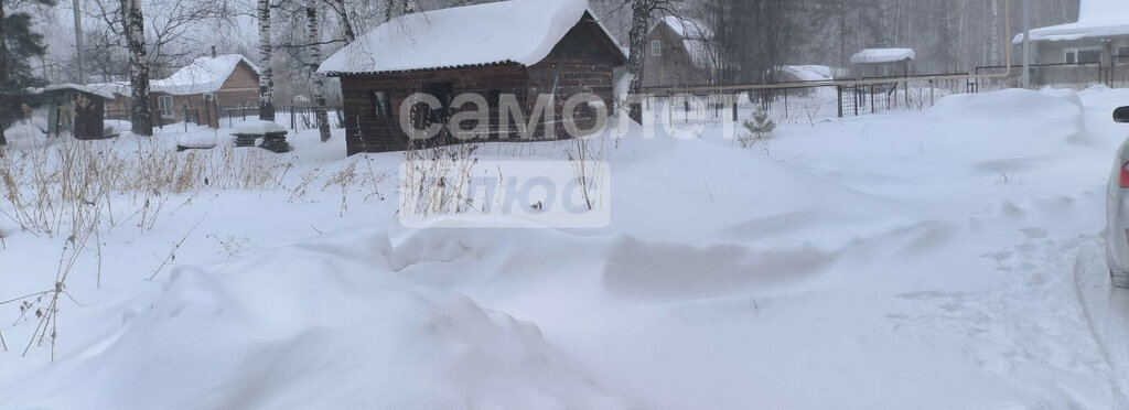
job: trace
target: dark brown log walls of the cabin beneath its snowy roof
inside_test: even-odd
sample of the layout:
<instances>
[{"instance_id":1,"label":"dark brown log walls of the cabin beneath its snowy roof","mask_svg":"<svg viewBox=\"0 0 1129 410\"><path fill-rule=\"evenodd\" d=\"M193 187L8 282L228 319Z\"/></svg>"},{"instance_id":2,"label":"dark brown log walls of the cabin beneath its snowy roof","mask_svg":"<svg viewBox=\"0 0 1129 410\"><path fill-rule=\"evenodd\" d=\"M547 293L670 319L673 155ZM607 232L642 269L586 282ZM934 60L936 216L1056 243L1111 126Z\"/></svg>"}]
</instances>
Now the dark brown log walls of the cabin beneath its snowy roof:
<instances>
[{"instance_id":1,"label":"dark brown log walls of the cabin beneath its snowy roof","mask_svg":"<svg viewBox=\"0 0 1129 410\"><path fill-rule=\"evenodd\" d=\"M421 70L409 72L387 72L369 75L341 75L341 91L344 103L345 141L349 155L359 152L399 151L411 148L409 137L400 127L401 105L415 93L429 91L435 85L449 86L449 98L461 94L474 93L487 98L490 107L490 132L485 140L518 140L516 119L506 124L499 122L499 107L493 103L499 95L514 95L526 121L533 113L539 95L554 95L555 121L546 124L542 117L534 124L533 140L545 138L545 127L554 128L554 137L566 138L563 119L564 102L577 94L590 93L598 97L605 107L613 108L614 90L613 73L615 67L624 63L618 52L613 52L614 43L603 34L603 29L594 18L585 14L543 61L523 67L517 63L492 64L460 69ZM377 110L377 93L385 93L387 104L384 110ZM436 93L430 93L436 94ZM440 93L443 94L443 93ZM449 101L447 102L449 103ZM421 113L417 106L412 122L422 129L436 117ZM444 115L453 115L461 110L474 110L472 104L463 107L450 107ZM592 107L581 106L576 111L575 120L579 129L590 129L595 123ZM439 121L446 122L443 119ZM474 121L460 124L464 130L478 125ZM454 142L449 137L440 136L435 141ZM419 145L418 145L419 146Z\"/></svg>"}]
</instances>

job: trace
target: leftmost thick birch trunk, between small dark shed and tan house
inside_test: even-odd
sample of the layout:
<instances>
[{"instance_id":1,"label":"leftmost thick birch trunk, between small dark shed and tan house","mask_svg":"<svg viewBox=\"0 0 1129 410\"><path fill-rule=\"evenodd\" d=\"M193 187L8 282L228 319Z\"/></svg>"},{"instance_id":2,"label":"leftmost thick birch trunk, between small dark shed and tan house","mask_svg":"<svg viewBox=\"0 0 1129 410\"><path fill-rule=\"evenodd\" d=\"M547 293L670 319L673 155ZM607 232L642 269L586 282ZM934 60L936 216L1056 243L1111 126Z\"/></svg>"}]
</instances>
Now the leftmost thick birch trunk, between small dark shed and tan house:
<instances>
[{"instance_id":1,"label":"leftmost thick birch trunk, between small dark shed and tan house","mask_svg":"<svg viewBox=\"0 0 1129 410\"><path fill-rule=\"evenodd\" d=\"M122 0L122 12L125 17L125 41L130 50L130 86L131 97L130 122L133 133L152 136L152 105L149 103L149 64L146 56L145 17L141 15L140 0Z\"/></svg>"}]
</instances>

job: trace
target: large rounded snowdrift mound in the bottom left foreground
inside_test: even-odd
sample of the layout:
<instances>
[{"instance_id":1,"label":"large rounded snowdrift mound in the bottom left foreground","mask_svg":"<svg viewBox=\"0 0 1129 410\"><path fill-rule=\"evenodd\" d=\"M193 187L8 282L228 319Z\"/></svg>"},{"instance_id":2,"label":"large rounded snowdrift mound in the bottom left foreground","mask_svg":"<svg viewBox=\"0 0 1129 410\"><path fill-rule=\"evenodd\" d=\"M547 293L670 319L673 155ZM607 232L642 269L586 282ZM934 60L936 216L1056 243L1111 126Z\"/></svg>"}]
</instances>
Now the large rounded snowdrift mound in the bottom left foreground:
<instances>
[{"instance_id":1,"label":"large rounded snowdrift mound in the bottom left foreground","mask_svg":"<svg viewBox=\"0 0 1129 410\"><path fill-rule=\"evenodd\" d=\"M396 278L386 246L338 235L178 268L120 333L8 394L20 408L627 408L535 325Z\"/></svg>"}]
</instances>

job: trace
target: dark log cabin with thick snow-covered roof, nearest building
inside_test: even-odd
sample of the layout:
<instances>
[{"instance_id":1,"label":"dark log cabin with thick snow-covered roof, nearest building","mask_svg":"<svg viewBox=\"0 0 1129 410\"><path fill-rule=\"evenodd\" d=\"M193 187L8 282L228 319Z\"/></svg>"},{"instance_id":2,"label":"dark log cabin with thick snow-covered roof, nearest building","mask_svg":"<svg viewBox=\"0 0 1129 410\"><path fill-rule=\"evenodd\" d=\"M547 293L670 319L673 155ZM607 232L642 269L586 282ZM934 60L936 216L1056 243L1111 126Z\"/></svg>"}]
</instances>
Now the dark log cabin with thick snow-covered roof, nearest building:
<instances>
[{"instance_id":1,"label":"dark log cabin with thick snow-covered roof, nearest building","mask_svg":"<svg viewBox=\"0 0 1129 410\"><path fill-rule=\"evenodd\" d=\"M555 121L542 116L533 123L532 139L566 137L560 121L564 102L592 94L599 101L587 107L612 108L612 71L625 62L587 1L509 0L392 19L330 56L318 72L341 79L347 145L353 155L410 148L403 125L444 124L429 142L453 142L449 136L457 130L447 120L481 108L454 105L464 94L481 96L490 114L487 137L479 140L519 139L517 119L501 122L501 103L516 99L530 119L544 96L554 102ZM402 105L417 93L435 96L441 106L415 104L404 124ZM593 110L584 108L574 113L580 129L595 122ZM457 127L474 129L480 121Z\"/></svg>"}]
</instances>

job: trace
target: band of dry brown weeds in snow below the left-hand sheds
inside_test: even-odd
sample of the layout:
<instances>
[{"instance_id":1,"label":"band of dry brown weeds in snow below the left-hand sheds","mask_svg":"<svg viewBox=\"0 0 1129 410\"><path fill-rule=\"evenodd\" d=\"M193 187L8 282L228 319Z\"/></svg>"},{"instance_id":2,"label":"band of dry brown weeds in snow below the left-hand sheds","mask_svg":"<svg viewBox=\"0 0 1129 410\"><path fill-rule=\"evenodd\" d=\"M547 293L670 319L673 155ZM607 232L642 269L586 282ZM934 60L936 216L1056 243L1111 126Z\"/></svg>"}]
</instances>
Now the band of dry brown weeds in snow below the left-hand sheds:
<instances>
[{"instance_id":1,"label":"band of dry brown weeds in snow below the left-hand sheds","mask_svg":"<svg viewBox=\"0 0 1129 410\"><path fill-rule=\"evenodd\" d=\"M138 140L76 141L0 156L0 217L36 236L78 237L96 215L111 227L135 224L151 230L173 194L207 190L271 191L290 168L282 156L262 150L176 152Z\"/></svg>"}]
</instances>

